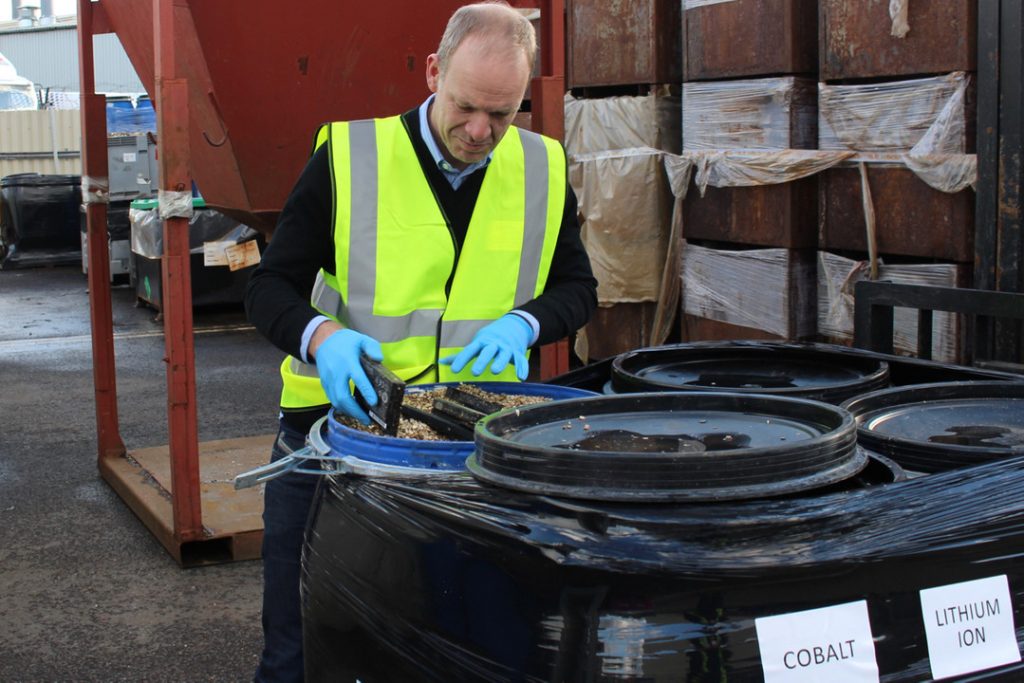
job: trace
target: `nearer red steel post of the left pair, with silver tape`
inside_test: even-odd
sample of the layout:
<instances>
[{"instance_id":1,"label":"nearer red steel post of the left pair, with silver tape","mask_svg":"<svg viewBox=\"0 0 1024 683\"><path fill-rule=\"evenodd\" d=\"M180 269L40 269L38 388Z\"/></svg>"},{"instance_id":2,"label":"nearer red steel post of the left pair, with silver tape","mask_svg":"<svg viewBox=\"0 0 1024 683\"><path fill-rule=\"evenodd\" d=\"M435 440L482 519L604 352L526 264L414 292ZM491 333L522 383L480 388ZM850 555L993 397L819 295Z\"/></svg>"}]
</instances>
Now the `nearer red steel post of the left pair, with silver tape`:
<instances>
[{"instance_id":1,"label":"nearer red steel post of the left pair, with silver tape","mask_svg":"<svg viewBox=\"0 0 1024 683\"><path fill-rule=\"evenodd\" d=\"M157 132L160 144L160 213L164 220L163 300L167 356L167 419L171 454L171 508L174 536L181 542L203 537L196 415L196 349L193 335L188 218L191 177L188 150L188 82L178 78L174 48L178 12L184 0L154 0ZM172 200L187 195L186 208Z\"/></svg>"}]
</instances>

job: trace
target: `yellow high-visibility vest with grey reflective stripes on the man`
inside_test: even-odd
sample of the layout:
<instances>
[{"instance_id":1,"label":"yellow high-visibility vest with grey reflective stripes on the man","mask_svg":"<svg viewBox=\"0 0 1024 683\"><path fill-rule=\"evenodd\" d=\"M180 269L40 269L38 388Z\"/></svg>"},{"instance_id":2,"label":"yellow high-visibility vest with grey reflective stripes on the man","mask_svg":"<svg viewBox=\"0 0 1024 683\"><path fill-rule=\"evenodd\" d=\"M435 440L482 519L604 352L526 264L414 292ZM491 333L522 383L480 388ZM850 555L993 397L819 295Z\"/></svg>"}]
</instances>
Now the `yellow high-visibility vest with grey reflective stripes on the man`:
<instances>
[{"instance_id":1,"label":"yellow high-visibility vest with grey reflective stripes on the man","mask_svg":"<svg viewBox=\"0 0 1024 683\"><path fill-rule=\"evenodd\" d=\"M457 254L400 117L328 124L316 146L325 143L337 274L317 274L313 307L379 341L384 365L407 381L515 381L512 364L474 378L472 364L457 374L437 360L544 291L565 202L561 145L509 128ZM288 356L281 375L283 408L329 402L314 365Z\"/></svg>"}]
</instances>

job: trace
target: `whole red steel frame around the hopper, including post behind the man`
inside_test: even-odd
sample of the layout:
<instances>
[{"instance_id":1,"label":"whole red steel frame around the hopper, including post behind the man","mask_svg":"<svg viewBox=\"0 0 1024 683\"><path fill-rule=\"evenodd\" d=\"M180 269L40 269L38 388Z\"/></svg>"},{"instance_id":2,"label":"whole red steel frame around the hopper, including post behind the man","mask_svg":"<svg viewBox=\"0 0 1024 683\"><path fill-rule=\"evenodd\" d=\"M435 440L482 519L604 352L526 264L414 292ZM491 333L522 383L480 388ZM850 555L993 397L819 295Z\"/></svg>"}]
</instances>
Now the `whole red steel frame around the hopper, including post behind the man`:
<instances>
[{"instance_id":1,"label":"whole red steel frame around the hopper, including post behind the man","mask_svg":"<svg viewBox=\"0 0 1024 683\"><path fill-rule=\"evenodd\" d=\"M195 31L195 27L191 26L187 0L152 2L156 75L153 94L160 139L161 188L164 191L189 193L193 153L189 147L189 83L181 71L181 54L175 49L175 37L183 35L189 28ZM512 4L541 10L542 65L541 76L531 83L532 127L561 139L565 92L564 1L538 0ZM106 179L108 163L105 98L95 93L92 37L112 31L102 0L78 0L82 169L83 178L93 180ZM152 486L138 485L137 468L127 464L127 451L120 434L106 205L87 199L86 224L99 471L168 551L179 562L185 563L184 546L211 540L204 530L201 506L188 219L173 216L164 220L162 311L171 458L170 515L165 510L167 501L159 492ZM567 342L561 341L541 349L542 377L567 370ZM258 550L252 539L246 539L239 546L244 547L249 556L253 556L254 549ZM220 559L242 559L238 556L224 557L222 544L217 548L220 549Z\"/></svg>"}]
</instances>

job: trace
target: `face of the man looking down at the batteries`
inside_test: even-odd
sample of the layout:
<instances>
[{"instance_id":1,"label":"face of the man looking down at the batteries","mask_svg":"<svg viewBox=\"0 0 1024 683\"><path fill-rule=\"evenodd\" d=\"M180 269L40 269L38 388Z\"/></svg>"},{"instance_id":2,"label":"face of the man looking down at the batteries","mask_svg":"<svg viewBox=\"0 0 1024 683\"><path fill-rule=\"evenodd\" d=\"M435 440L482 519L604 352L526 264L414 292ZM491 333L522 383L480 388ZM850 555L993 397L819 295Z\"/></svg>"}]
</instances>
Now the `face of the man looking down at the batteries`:
<instances>
[{"instance_id":1,"label":"face of the man looking down at the batteries","mask_svg":"<svg viewBox=\"0 0 1024 683\"><path fill-rule=\"evenodd\" d=\"M427 86L436 94L430 127L449 163L465 168L490 154L512 124L528 79L522 50L488 49L473 36L456 49L443 77L437 55L427 57Z\"/></svg>"}]
</instances>

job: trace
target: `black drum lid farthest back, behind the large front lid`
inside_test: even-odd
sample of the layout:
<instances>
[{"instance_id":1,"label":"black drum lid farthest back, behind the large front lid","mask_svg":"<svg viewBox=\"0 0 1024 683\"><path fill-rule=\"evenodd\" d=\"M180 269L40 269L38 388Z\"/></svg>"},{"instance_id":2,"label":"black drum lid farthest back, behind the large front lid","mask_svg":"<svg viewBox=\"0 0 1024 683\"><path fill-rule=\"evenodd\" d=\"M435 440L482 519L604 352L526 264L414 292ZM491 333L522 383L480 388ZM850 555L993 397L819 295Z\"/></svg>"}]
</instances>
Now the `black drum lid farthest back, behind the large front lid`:
<instances>
[{"instance_id":1,"label":"black drum lid farthest back, behind the large front lid","mask_svg":"<svg viewBox=\"0 0 1024 683\"><path fill-rule=\"evenodd\" d=\"M630 351L611 364L615 393L733 391L840 403L888 384L885 361L812 344L679 344Z\"/></svg>"}]
</instances>

